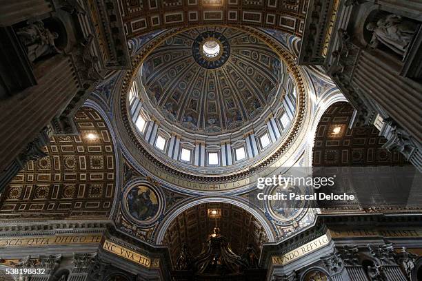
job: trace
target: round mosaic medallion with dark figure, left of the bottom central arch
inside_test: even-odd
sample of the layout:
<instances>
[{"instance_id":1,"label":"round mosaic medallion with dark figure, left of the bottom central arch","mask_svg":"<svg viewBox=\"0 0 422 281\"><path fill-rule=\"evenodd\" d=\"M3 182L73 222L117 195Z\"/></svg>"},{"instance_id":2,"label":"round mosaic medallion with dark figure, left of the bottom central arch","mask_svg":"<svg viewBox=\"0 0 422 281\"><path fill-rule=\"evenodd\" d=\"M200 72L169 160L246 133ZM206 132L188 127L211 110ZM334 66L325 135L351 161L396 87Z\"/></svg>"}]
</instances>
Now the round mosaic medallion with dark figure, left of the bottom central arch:
<instances>
[{"instance_id":1,"label":"round mosaic medallion with dark figure, left of the bottom central arch","mask_svg":"<svg viewBox=\"0 0 422 281\"><path fill-rule=\"evenodd\" d=\"M157 189L148 183L137 183L123 194L123 208L128 216L141 225L154 222L161 214L163 202Z\"/></svg>"}]
</instances>

